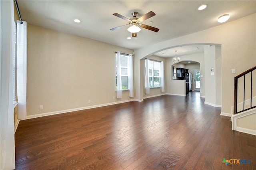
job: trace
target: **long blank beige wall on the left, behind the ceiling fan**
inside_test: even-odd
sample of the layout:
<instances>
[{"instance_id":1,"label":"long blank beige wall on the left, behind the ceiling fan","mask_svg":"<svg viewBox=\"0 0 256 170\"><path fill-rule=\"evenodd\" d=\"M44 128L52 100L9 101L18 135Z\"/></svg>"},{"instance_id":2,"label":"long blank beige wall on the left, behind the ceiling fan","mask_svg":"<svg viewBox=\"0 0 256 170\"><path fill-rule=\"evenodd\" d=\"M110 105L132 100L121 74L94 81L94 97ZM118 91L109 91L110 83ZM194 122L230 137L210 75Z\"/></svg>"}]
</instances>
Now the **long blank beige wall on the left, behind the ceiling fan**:
<instances>
[{"instance_id":1,"label":"long blank beige wall on the left, behind the ceiling fan","mask_svg":"<svg viewBox=\"0 0 256 170\"><path fill-rule=\"evenodd\" d=\"M30 24L27 36L27 115L132 99L124 91L116 100L114 53L130 54L132 49Z\"/></svg>"}]
</instances>

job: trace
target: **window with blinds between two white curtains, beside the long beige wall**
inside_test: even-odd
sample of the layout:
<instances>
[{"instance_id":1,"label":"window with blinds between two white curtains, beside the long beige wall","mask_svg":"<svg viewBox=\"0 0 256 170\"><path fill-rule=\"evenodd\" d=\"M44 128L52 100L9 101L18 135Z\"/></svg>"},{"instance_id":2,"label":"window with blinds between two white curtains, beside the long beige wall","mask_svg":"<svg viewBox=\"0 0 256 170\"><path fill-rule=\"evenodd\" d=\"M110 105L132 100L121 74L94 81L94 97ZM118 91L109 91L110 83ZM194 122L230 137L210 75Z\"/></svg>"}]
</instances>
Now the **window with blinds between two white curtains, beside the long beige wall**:
<instances>
[{"instance_id":1,"label":"window with blinds between two white curtains, beside the long beige wall","mask_svg":"<svg viewBox=\"0 0 256 170\"><path fill-rule=\"evenodd\" d=\"M129 56L120 54L122 90L129 90ZM116 57L116 89L117 89L117 57Z\"/></svg>"}]
</instances>

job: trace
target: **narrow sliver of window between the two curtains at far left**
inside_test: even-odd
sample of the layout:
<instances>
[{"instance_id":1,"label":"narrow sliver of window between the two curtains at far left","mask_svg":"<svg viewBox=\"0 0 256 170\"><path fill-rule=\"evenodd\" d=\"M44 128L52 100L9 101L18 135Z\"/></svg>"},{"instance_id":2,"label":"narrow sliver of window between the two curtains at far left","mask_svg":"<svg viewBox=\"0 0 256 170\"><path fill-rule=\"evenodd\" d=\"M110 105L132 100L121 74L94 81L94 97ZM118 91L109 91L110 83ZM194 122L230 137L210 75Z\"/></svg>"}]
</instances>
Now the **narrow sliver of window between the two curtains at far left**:
<instances>
[{"instance_id":1,"label":"narrow sliver of window between the two curtains at far left","mask_svg":"<svg viewBox=\"0 0 256 170\"><path fill-rule=\"evenodd\" d=\"M13 80L13 103L16 104L16 58L17 58L17 43L16 43L16 22L13 24L14 30L14 43L13 43L13 56L12 56L12 80Z\"/></svg>"}]
</instances>

